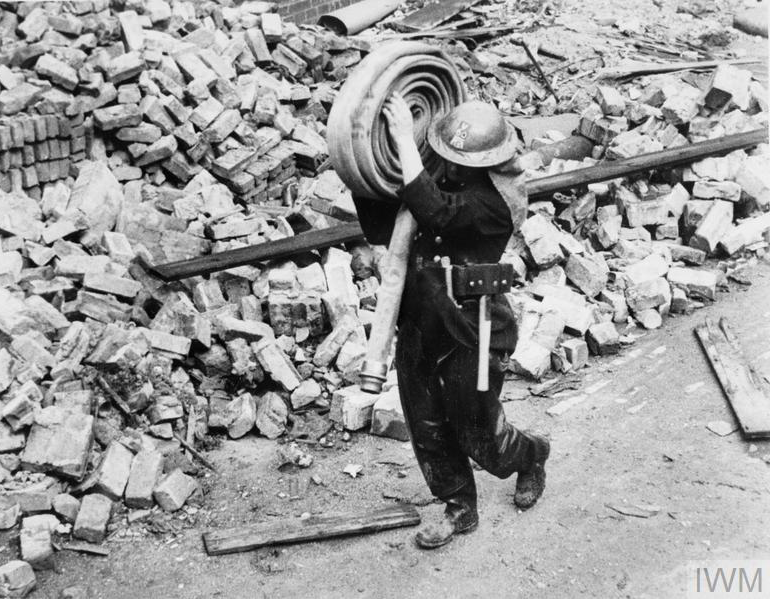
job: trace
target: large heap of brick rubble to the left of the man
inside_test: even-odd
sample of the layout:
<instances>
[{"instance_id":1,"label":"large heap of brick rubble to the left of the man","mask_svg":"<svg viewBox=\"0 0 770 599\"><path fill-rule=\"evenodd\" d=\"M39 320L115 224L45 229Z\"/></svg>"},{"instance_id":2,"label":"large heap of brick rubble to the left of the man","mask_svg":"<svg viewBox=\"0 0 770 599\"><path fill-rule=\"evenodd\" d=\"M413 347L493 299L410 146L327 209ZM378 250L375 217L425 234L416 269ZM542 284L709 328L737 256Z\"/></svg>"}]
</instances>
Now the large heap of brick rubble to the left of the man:
<instances>
[{"instance_id":1,"label":"large heap of brick rubble to the left of the man","mask_svg":"<svg viewBox=\"0 0 770 599\"><path fill-rule=\"evenodd\" d=\"M324 172L326 80L367 46L272 8L3 5L0 528L21 519L36 568L52 565L56 535L104 539L119 504L136 520L200 496L182 448L209 430L277 438L356 380L381 252L185 285L137 260L351 212Z\"/></svg>"}]
</instances>

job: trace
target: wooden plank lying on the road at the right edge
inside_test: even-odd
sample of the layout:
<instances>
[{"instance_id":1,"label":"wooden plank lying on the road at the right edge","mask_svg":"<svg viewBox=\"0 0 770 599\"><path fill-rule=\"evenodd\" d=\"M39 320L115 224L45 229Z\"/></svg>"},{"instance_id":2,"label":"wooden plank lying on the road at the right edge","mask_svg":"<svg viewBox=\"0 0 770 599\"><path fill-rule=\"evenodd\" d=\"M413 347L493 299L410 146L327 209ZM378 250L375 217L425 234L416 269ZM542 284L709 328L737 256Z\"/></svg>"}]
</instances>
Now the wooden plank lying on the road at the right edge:
<instances>
[{"instance_id":1,"label":"wooden plank lying on the road at the right edge","mask_svg":"<svg viewBox=\"0 0 770 599\"><path fill-rule=\"evenodd\" d=\"M770 389L748 363L738 339L722 318L695 329L711 367L735 412L745 437L770 437Z\"/></svg>"}]
</instances>

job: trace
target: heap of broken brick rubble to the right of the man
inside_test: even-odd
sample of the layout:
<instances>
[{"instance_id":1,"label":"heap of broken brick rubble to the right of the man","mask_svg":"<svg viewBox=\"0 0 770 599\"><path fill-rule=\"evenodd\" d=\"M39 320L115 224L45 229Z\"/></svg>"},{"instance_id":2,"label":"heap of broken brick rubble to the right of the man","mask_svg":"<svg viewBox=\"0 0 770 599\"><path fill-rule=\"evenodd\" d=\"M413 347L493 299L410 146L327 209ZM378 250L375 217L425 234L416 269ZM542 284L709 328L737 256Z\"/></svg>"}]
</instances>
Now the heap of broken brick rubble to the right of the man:
<instances>
[{"instance_id":1,"label":"heap of broken brick rubble to the right of the man","mask_svg":"<svg viewBox=\"0 0 770 599\"><path fill-rule=\"evenodd\" d=\"M665 75L625 94L599 86L579 127L596 144L593 156L546 167L531 151L521 166L535 178L767 127L767 92L748 71L723 65L701 83ZM505 258L527 281L510 296L520 327L510 368L535 379L552 368L578 369L589 353L617 353L632 342L615 324L655 329L669 313L714 301L728 277L745 282L738 263L725 259L767 254L767 166L762 145L531 203Z\"/></svg>"}]
</instances>

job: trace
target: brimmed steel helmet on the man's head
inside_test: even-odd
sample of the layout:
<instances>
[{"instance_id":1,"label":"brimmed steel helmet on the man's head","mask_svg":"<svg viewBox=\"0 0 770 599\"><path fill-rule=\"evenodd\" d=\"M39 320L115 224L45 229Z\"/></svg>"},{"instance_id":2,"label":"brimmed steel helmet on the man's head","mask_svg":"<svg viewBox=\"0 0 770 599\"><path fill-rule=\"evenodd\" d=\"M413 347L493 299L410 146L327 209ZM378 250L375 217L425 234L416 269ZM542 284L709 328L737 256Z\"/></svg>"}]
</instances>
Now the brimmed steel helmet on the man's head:
<instances>
[{"instance_id":1,"label":"brimmed steel helmet on the man's head","mask_svg":"<svg viewBox=\"0 0 770 599\"><path fill-rule=\"evenodd\" d=\"M450 162L482 168L513 158L518 138L497 108L472 100L436 118L428 129L428 143Z\"/></svg>"}]
</instances>

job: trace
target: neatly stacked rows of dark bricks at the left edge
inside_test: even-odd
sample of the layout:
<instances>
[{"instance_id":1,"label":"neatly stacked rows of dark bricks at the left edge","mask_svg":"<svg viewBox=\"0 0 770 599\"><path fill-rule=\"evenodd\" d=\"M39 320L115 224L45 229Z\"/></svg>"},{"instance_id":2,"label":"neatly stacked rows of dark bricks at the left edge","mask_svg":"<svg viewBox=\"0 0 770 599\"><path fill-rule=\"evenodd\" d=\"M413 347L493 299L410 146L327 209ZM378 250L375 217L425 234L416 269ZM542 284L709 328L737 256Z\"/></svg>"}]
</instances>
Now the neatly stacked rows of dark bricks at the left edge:
<instances>
[{"instance_id":1,"label":"neatly stacked rows of dark bricks at the left edge","mask_svg":"<svg viewBox=\"0 0 770 599\"><path fill-rule=\"evenodd\" d=\"M20 114L0 119L0 189L23 190L40 199L41 187L70 174L70 165L86 157L82 113Z\"/></svg>"}]
</instances>

